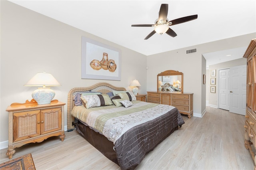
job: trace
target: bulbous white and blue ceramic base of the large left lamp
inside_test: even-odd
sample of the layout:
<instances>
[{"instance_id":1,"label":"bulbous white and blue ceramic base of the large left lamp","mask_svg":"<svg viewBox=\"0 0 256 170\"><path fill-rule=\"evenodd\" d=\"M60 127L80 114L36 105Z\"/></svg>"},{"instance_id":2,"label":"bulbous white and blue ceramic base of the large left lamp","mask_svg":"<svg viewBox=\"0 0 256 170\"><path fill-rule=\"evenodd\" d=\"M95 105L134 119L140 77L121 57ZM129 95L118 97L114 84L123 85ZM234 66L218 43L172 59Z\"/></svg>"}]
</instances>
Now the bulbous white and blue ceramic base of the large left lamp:
<instances>
[{"instance_id":1,"label":"bulbous white and blue ceramic base of the large left lamp","mask_svg":"<svg viewBox=\"0 0 256 170\"><path fill-rule=\"evenodd\" d=\"M32 93L32 98L38 105L50 104L55 92L50 88L38 88Z\"/></svg>"}]
</instances>

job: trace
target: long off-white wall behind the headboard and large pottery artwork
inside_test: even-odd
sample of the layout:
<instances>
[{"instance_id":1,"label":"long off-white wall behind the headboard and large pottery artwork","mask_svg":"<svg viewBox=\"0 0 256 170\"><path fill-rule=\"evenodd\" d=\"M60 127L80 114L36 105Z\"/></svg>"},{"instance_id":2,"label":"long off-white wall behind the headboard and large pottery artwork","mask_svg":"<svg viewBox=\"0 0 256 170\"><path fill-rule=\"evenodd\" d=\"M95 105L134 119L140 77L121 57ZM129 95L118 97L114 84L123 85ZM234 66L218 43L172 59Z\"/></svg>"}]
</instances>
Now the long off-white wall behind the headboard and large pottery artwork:
<instances>
[{"instance_id":1,"label":"long off-white wall behind the headboard and large pottery artwork","mask_svg":"<svg viewBox=\"0 0 256 170\"><path fill-rule=\"evenodd\" d=\"M8 144L8 112L11 103L31 100L37 87L23 85L36 73L46 71L62 85L52 87L54 99L67 102L68 92L74 87L88 87L107 82L129 88L133 79L146 94L146 56L118 44L88 34L82 30L48 18L9 1L1 3L1 59L0 59L0 148ZM85 21L86 22L86 21ZM81 79L81 37L85 36L122 51L121 81ZM136 62L134 62L136 61ZM66 126L66 108L64 108Z\"/></svg>"}]
</instances>

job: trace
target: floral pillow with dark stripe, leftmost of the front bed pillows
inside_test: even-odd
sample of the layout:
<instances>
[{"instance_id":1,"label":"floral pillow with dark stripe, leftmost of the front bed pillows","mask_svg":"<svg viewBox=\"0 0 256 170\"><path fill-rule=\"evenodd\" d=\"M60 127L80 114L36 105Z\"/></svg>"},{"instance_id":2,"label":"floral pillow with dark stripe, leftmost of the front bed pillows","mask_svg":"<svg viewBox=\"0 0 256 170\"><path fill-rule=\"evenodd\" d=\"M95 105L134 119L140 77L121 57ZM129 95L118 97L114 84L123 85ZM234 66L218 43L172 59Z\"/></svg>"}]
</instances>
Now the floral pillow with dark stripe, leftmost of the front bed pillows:
<instances>
[{"instance_id":1,"label":"floral pillow with dark stripe, leftmost of the front bed pillows","mask_svg":"<svg viewBox=\"0 0 256 170\"><path fill-rule=\"evenodd\" d=\"M81 99L86 109L89 109L91 107L113 105L108 95L84 95L81 96Z\"/></svg>"}]
</instances>

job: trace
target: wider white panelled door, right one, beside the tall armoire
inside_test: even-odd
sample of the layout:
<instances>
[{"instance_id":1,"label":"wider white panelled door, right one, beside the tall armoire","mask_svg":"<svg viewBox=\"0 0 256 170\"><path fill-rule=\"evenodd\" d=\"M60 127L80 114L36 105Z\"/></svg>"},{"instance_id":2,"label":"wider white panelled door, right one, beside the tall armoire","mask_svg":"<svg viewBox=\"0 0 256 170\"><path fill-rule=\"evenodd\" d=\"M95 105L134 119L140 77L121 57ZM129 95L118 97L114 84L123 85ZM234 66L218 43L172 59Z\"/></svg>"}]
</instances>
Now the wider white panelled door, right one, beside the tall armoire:
<instances>
[{"instance_id":1,"label":"wider white panelled door, right one, beside the tall armoire","mask_svg":"<svg viewBox=\"0 0 256 170\"><path fill-rule=\"evenodd\" d=\"M230 68L229 111L245 115L246 113L246 65Z\"/></svg>"}]
</instances>

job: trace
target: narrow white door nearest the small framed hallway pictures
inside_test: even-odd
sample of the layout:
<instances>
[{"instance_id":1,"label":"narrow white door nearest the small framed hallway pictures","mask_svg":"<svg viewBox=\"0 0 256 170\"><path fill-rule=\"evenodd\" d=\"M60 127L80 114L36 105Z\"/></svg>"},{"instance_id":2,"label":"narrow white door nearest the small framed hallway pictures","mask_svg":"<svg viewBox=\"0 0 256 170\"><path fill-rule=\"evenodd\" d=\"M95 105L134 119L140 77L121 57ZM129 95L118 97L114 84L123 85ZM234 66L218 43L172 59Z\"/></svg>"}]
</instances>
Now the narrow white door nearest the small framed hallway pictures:
<instances>
[{"instance_id":1,"label":"narrow white door nearest the small framed hallway pictures","mask_svg":"<svg viewBox=\"0 0 256 170\"><path fill-rule=\"evenodd\" d=\"M219 70L219 108L229 110L229 69Z\"/></svg>"}]
</instances>

